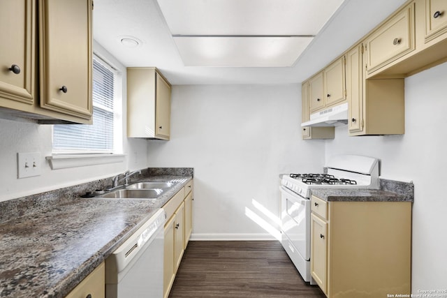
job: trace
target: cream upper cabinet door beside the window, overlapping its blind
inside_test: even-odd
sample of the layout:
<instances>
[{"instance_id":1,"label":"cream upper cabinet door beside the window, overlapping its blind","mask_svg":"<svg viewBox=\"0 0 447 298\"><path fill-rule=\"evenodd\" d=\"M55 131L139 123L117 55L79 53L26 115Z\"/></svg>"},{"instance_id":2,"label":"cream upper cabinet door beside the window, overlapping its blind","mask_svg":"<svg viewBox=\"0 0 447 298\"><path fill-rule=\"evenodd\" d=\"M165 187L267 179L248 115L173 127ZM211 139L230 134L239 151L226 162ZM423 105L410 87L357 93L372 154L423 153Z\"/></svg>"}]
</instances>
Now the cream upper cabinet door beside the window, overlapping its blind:
<instances>
[{"instance_id":1,"label":"cream upper cabinet door beside the window, overlapping its blind","mask_svg":"<svg viewBox=\"0 0 447 298\"><path fill-rule=\"evenodd\" d=\"M39 0L41 107L90 119L91 0Z\"/></svg>"}]
</instances>

